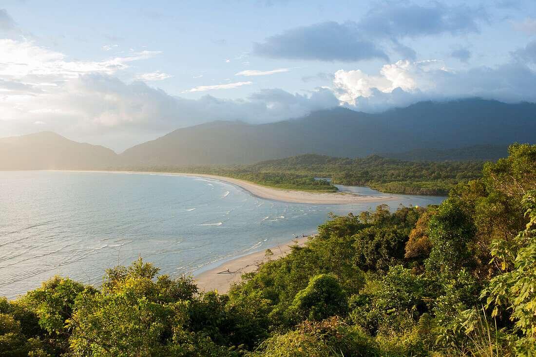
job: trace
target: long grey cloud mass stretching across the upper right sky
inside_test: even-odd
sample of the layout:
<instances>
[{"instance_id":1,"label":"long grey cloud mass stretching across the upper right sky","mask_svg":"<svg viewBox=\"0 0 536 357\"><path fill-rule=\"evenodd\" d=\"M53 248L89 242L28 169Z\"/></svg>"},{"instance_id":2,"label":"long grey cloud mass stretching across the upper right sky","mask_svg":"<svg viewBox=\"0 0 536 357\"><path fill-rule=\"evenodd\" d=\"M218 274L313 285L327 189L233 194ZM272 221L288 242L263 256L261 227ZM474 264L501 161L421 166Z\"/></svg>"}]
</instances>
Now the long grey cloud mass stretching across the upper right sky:
<instances>
[{"instance_id":1,"label":"long grey cloud mass stretching across the upper right sky","mask_svg":"<svg viewBox=\"0 0 536 357\"><path fill-rule=\"evenodd\" d=\"M401 44L401 39L479 32L478 22L486 19L484 8L386 1L377 3L359 21L328 21L270 36L253 44L253 54L319 61L389 61L384 48L391 47L405 59L414 59L415 51Z\"/></svg>"}]
</instances>

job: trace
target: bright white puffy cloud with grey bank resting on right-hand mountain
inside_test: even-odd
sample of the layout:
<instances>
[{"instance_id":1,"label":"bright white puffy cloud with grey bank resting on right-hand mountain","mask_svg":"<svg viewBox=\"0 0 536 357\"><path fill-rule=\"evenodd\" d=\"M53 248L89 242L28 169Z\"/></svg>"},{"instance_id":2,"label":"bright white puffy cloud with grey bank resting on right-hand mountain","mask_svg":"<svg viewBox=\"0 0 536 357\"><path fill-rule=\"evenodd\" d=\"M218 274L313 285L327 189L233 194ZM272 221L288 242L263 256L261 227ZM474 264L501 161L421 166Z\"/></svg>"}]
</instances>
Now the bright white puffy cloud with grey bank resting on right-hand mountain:
<instances>
[{"instance_id":1,"label":"bright white puffy cloud with grey bank resting on right-hand mountain","mask_svg":"<svg viewBox=\"0 0 536 357\"><path fill-rule=\"evenodd\" d=\"M340 101L364 111L468 97L536 101L536 72L519 63L452 71L441 61L398 61L384 65L379 72L379 76L371 76L361 70L339 70L331 90Z\"/></svg>"}]
</instances>

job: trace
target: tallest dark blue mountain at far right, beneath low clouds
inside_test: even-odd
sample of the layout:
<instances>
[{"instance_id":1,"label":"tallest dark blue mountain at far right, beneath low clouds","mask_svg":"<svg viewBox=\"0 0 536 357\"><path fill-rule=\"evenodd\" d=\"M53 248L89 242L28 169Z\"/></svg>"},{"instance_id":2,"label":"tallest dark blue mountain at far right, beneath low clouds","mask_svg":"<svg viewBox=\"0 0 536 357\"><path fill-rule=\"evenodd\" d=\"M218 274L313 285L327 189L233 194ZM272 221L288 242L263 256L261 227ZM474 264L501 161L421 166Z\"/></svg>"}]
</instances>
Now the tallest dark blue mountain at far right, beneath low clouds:
<instances>
[{"instance_id":1,"label":"tallest dark blue mountain at far right, beneath low clouds","mask_svg":"<svg viewBox=\"0 0 536 357\"><path fill-rule=\"evenodd\" d=\"M375 117L413 140L427 138L429 147L456 148L475 144L533 143L536 104L463 99L419 102ZM426 146L420 145L419 148ZM394 152L401 152L398 150Z\"/></svg>"}]
</instances>

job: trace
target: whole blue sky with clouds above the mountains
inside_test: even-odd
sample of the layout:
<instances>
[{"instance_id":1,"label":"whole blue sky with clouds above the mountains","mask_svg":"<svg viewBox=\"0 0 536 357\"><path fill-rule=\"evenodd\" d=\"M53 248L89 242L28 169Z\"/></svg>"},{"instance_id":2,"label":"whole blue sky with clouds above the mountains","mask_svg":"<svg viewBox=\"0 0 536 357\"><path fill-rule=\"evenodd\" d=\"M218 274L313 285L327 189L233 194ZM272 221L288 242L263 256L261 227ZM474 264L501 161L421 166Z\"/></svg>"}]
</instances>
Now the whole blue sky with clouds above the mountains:
<instances>
[{"instance_id":1,"label":"whole blue sky with clouds above the mountains","mask_svg":"<svg viewBox=\"0 0 536 357\"><path fill-rule=\"evenodd\" d=\"M0 137L126 148L214 120L536 102L536 2L0 1Z\"/></svg>"}]
</instances>

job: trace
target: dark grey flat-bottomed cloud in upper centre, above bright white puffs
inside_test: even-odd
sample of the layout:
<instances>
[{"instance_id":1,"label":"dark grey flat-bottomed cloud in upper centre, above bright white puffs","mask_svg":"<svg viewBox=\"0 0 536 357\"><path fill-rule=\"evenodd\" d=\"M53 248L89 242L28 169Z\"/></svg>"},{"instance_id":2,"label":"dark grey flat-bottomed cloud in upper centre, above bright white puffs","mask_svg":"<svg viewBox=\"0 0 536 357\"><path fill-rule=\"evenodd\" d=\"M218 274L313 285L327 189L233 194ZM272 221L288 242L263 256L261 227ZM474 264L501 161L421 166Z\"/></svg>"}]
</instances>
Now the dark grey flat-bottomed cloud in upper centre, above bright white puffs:
<instances>
[{"instance_id":1,"label":"dark grey flat-bottomed cloud in upper centre, above bright white puffs","mask_svg":"<svg viewBox=\"0 0 536 357\"><path fill-rule=\"evenodd\" d=\"M360 39L355 23L334 21L297 27L273 35L263 43L254 43L253 54L269 58L318 59L321 61L354 62L381 58L389 61L374 42Z\"/></svg>"}]
</instances>

